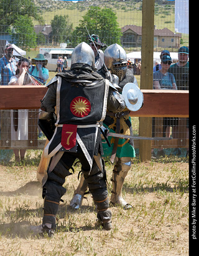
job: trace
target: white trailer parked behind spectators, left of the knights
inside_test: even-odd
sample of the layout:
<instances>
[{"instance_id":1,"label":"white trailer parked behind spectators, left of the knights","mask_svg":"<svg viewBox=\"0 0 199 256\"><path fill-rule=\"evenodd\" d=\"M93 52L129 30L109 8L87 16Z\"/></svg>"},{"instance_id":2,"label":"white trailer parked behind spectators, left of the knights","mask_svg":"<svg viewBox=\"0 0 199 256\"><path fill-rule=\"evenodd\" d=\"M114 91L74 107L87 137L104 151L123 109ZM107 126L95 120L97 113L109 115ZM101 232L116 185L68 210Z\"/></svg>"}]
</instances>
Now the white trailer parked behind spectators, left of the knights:
<instances>
[{"instance_id":1,"label":"white trailer parked behind spectators, left of the knights","mask_svg":"<svg viewBox=\"0 0 199 256\"><path fill-rule=\"evenodd\" d=\"M56 71L58 56L67 56L68 68L71 65L71 56L74 48L40 48L39 53L44 54L45 59L48 60L46 66L49 71Z\"/></svg>"}]
</instances>

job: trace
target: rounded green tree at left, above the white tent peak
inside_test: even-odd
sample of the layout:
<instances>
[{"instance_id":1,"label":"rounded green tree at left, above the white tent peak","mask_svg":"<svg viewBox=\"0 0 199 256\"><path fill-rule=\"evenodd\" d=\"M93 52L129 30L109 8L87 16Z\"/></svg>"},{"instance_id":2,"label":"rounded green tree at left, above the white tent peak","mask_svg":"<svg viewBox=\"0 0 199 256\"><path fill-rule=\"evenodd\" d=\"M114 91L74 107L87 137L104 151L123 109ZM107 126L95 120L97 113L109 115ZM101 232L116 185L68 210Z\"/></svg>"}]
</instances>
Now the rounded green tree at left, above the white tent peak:
<instances>
[{"instance_id":1,"label":"rounded green tree at left, above the white tent peak","mask_svg":"<svg viewBox=\"0 0 199 256\"><path fill-rule=\"evenodd\" d=\"M19 47L29 49L36 46L36 33L34 25L27 15L18 16L16 21L13 22L12 28L9 28L12 40L17 41Z\"/></svg>"}]
</instances>

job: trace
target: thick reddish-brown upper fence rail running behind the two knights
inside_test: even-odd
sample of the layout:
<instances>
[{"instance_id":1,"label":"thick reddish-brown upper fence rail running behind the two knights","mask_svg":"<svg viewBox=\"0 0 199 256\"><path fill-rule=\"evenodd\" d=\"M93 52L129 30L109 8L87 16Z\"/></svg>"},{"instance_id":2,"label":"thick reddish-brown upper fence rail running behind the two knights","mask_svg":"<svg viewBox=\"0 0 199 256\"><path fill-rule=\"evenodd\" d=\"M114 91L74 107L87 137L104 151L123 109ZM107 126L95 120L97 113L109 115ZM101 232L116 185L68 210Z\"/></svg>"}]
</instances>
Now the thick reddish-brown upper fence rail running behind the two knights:
<instances>
[{"instance_id":1,"label":"thick reddish-brown upper fence rail running behind the two knights","mask_svg":"<svg viewBox=\"0 0 199 256\"><path fill-rule=\"evenodd\" d=\"M188 117L188 91L141 90L144 106L135 117ZM0 86L0 109L39 109L45 86Z\"/></svg>"}]
</instances>

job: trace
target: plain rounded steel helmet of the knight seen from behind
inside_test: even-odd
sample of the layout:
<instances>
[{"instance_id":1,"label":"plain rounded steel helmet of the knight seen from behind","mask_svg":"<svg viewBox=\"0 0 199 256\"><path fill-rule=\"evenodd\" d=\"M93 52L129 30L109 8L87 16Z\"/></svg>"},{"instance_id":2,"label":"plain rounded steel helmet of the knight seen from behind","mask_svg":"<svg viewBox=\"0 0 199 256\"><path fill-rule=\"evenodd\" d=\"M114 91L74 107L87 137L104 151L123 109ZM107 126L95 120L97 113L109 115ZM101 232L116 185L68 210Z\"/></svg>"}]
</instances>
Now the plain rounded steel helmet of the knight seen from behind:
<instances>
[{"instance_id":1,"label":"plain rounded steel helmet of the knight seen from behind","mask_svg":"<svg viewBox=\"0 0 199 256\"><path fill-rule=\"evenodd\" d=\"M84 63L95 67L95 54L86 42L81 42L73 50L71 64L75 63Z\"/></svg>"}]
</instances>

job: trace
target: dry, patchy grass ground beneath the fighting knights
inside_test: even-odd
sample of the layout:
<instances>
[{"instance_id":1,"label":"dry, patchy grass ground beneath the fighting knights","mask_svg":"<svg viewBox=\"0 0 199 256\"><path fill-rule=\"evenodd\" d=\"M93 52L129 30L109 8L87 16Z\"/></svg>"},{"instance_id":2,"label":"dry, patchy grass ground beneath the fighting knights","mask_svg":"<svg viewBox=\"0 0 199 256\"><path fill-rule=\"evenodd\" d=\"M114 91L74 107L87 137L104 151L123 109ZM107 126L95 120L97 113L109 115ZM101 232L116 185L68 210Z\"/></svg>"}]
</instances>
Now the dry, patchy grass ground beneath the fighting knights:
<instances>
[{"instance_id":1,"label":"dry, patchy grass ground beneath the fighting knights","mask_svg":"<svg viewBox=\"0 0 199 256\"><path fill-rule=\"evenodd\" d=\"M64 184L53 239L41 237L42 188L36 178L40 150L27 150L25 165L0 165L0 255L6 256L188 256L188 159L135 159L123 187L132 209L111 207L113 230L96 224L91 195L81 210L69 207L77 175ZM107 162L111 195L113 166ZM9 182L8 182L9 181Z\"/></svg>"}]
</instances>

